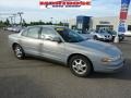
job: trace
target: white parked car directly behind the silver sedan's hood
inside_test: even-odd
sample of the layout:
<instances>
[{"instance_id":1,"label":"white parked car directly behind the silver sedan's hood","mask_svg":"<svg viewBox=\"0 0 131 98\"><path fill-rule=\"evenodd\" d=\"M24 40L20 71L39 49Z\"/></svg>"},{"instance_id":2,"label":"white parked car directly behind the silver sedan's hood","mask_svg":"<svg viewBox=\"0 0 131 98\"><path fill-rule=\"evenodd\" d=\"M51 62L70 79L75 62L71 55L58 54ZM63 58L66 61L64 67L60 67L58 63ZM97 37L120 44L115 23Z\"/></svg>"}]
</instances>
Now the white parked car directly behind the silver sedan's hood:
<instances>
[{"instance_id":1,"label":"white parked car directly behind the silver sedan's hood","mask_svg":"<svg viewBox=\"0 0 131 98\"><path fill-rule=\"evenodd\" d=\"M96 40L102 40L102 41L112 40L112 36L103 29L99 30L90 29L88 33L93 35L94 39Z\"/></svg>"}]
</instances>

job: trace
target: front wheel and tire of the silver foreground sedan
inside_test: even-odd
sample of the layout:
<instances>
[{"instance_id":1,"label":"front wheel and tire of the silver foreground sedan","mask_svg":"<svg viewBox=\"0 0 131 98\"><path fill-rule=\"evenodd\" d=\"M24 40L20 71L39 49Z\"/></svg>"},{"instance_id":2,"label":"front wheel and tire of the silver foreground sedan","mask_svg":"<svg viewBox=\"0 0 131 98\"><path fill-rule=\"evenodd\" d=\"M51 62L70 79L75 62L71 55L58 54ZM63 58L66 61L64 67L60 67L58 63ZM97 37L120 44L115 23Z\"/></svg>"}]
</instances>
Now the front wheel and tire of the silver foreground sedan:
<instances>
[{"instance_id":1,"label":"front wheel and tire of the silver foreground sedan","mask_svg":"<svg viewBox=\"0 0 131 98\"><path fill-rule=\"evenodd\" d=\"M86 77L93 71L91 62L83 56L74 56L69 61L71 72L79 77Z\"/></svg>"}]
</instances>

